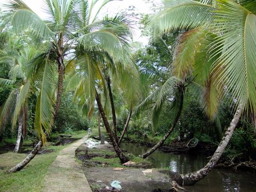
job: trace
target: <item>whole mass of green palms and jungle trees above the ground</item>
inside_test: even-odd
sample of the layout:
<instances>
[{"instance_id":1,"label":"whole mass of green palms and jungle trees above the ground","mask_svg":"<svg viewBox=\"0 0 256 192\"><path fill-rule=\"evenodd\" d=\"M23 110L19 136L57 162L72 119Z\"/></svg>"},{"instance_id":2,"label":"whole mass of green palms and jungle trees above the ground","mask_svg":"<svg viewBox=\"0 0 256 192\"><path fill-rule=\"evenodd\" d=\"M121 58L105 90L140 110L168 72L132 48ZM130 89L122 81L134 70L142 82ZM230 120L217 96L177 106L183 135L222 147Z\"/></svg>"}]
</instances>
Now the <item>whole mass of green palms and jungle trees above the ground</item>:
<instances>
[{"instance_id":1,"label":"whole mass of green palms and jungle trees above the ground","mask_svg":"<svg viewBox=\"0 0 256 192\"><path fill-rule=\"evenodd\" d=\"M151 147L143 159L193 138L211 145L202 169L172 178L182 185L218 162L255 163L255 1L163 0L140 15L147 45L133 41L134 14L102 17L111 0L43 2L45 18L22 0L0 12L0 147L34 143L9 174L55 135L89 128L107 133L121 166L137 158L127 140Z\"/></svg>"}]
</instances>

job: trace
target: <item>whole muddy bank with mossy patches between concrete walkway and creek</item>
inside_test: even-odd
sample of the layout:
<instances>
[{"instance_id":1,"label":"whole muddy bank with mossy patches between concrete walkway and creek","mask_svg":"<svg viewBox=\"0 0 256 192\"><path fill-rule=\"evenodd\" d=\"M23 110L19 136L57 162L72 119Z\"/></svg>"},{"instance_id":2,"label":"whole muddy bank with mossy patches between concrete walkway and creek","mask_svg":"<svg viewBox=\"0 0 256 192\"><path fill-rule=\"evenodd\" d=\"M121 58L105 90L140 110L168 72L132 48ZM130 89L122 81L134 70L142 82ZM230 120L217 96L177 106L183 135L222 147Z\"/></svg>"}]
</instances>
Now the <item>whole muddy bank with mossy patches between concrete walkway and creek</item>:
<instances>
[{"instance_id":1,"label":"whole muddy bank with mossy patches between concrete walkway and creek","mask_svg":"<svg viewBox=\"0 0 256 192\"><path fill-rule=\"evenodd\" d=\"M170 191L173 187L169 171L154 169L140 157L130 156L134 163L130 166L121 165L109 144L95 145L94 148L81 145L76 150L76 157L81 160L93 191ZM113 181L121 182L122 190L111 190Z\"/></svg>"}]
</instances>

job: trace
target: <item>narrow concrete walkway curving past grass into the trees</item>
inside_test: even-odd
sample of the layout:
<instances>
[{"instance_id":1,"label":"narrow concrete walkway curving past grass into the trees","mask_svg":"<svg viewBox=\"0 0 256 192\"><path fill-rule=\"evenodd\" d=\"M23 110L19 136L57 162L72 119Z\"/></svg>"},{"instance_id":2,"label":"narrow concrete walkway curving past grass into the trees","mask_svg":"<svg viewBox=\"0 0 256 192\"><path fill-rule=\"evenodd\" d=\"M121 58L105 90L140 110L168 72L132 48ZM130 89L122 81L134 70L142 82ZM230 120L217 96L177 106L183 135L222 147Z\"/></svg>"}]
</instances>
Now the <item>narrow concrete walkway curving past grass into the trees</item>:
<instances>
[{"instance_id":1,"label":"narrow concrete walkway curving past grass into the trees","mask_svg":"<svg viewBox=\"0 0 256 192\"><path fill-rule=\"evenodd\" d=\"M84 137L60 151L47 171L42 191L92 192L81 166L75 159L75 150L86 139Z\"/></svg>"}]
</instances>

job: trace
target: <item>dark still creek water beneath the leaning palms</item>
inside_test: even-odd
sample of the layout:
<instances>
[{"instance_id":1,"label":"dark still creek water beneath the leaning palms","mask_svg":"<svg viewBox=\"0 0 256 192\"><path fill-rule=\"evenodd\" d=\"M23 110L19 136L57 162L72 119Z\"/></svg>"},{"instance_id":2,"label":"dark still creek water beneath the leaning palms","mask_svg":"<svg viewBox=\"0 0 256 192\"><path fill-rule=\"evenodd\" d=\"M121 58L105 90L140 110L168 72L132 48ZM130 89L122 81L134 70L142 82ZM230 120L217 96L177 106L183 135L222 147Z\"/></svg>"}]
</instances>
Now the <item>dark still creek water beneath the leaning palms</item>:
<instances>
[{"instance_id":1,"label":"dark still creek water beneath the leaning palms","mask_svg":"<svg viewBox=\"0 0 256 192\"><path fill-rule=\"evenodd\" d=\"M142 155L148 149L146 146L138 146L133 143L124 143L122 148L135 155ZM207 158L202 155L175 155L159 150L151 154L148 160L157 168L167 167L180 174L196 171L207 163ZM256 175L247 172L237 173L227 169L213 169L195 186L187 186L186 189L199 192L256 192Z\"/></svg>"}]
</instances>

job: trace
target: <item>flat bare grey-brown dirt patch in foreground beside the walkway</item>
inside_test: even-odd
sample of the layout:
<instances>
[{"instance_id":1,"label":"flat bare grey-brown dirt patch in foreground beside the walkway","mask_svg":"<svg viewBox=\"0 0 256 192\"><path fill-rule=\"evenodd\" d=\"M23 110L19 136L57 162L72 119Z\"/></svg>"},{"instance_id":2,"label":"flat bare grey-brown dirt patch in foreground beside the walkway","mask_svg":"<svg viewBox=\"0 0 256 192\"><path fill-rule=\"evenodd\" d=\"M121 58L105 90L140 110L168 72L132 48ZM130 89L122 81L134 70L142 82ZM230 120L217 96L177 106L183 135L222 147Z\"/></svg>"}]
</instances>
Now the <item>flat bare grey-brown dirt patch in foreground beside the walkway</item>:
<instances>
[{"instance_id":1,"label":"flat bare grey-brown dirt patch in foreground beside the walkway","mask_svg":"<svg viewBox=\"0 0 256 192\"><path fill-rule=\"evenodd\" d=\"M128 192L145 192L156 191L159 188L172 188L171 180L167 174L153 169L152 173L143 174L145 169L125 168L121 171L115 171L113 167L83 167L84 174L94 189L110 187L112 181L121 182L123 191ZM161 190L159 190L161 191Z\"/></svg>"}]
</instances>

